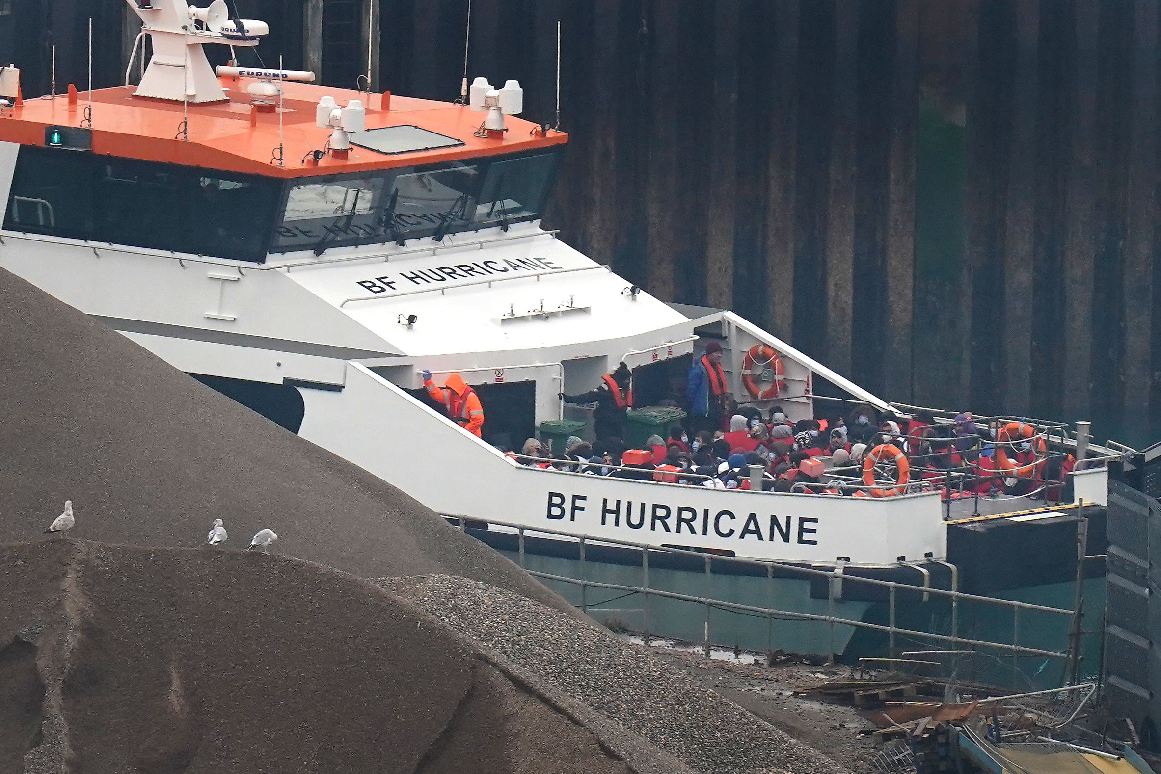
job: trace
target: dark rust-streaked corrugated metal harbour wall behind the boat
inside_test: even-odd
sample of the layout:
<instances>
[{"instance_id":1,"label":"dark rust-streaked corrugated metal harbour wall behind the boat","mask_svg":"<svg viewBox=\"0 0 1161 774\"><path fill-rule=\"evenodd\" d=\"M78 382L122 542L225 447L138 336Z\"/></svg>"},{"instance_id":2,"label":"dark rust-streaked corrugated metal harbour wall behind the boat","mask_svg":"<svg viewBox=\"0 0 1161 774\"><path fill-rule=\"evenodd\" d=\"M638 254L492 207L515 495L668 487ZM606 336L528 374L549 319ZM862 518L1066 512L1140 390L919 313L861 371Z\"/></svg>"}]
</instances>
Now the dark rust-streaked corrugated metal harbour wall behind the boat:
<instances>
[{"instance_id":1,"label":"dark rust-streaked corrugated metal harbour wall behind the boat","mask_svg":"<svg viewBox=\"0 0 1161 774\"><path fill-rule=\"evenodd\" d=\"M381 0L382 87L455 97L466 9ZM474 0L469 77L554 121L557 20L570 244L888 398L1161 429L1156 0Z\"/></svg>"}]
</instances>

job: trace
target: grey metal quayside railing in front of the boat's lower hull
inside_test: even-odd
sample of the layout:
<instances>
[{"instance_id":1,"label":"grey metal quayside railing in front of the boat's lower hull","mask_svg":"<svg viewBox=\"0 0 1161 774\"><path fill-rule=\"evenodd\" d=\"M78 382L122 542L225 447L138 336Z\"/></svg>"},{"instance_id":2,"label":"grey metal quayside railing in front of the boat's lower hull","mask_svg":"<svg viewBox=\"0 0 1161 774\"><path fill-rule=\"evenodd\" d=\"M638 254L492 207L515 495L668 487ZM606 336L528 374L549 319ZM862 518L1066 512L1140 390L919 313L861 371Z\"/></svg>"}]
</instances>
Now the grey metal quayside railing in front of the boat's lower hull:
<instances>
[{"instance_id":1,"label":"grey metal quayside railing in front of the boat's lower hull","mask_svg":"<svg viewBox=\"0 0 1161 774\"><path fill-rule=\"evenodd\" d=\"M448 515L448 514L446 514L446 515ZM463 516L455 516L455 515L449 515L448 518L459 520L459 526L460 526L461 530L466 530L468 528L468 521L470 521L469 519L463 518ZM888 651L889 651L890 658L894 658L895 654L896 654L896 651L897 651L896 638L897 637L909 637L909 638L915 638L915 639L918 639L918 641L945 642L945 643L950 643L950 646L953 648L953 649L957 645L973 645L973 646L976 646L976 648L987 648L987 649L1000 650L1000 651L1004 651L1007 653L1010 653L1011 657L1012 657L1012 659L1014 659L1014 664L1015 664L1015 659L1017 657L1019 657L1019 656L1038 656L1038 657L1047 657L1047 658L1059 658L1059 659L1065 659L1068 663L1073 663L1077 658L1077 652L1075 651L1075 648L1077 648L1079 645L1076 645L1072 641L1068 642L1068 646L1063 651L1052 651L1052 650L1043 650L1043 649L1038 649L1038 648L1027 648L1027 646L1023 646L1023 645L1019 644L1021 612L1040 612L1040 613L1047 613L1047 614L1052 614L1052 615L1063 615L1063 616L1068 616L1072 620L1076 615L1075 610L1070 610L1070 609L1066 609L1066 608L1059 608L1059 607L1050 607L1050 606L1046 606L1046 605L1034 605L1034 603L1031 603L1031 602L1019 602L1019 601L1016 601L1016 600L1004 600L1004 599L996 599L996 598L993 598L993 596L982 596L982 595L979 595L979 594L968 594L968 593L958 591L958 588L952 588L952 589L933 588L933 587L930 586L930 573L925 569L915 566L914 564L911 564L910 566L915 566L915 569L917 571L923 572L923 576L924 576L924 585L923 586L917 586L917 585L911 585L911 584L903 584L903 583L893 581L893 580L880 580L880 579L877 579L877 578L861 578L861 577L857 577L857 576L846 576L846 574L843 574L842 570L845 570L846 567L852 566L852 565L844 565L842 567L842 570L820 570L820 569L815 569L815 567L805 567L805 566L800 566L800 565L796 565L796 564L789 564L789 563L784 563L784 562L764 562L764 560L759 560L759 559L747 559L747 558L740 558L740 557L729 557L729 556L721 556L721 555L716 555L716 554L704 554L702 555L705 557L705 577L707 579L707 588L708 588L708 580L709 580L709 578L713 574L713 562L724 562L724 563L735 564L735 565L747 565L747 566L751 566L751 567L763 567L765 570L766 579L767 579L767 583L770 585L771 596L773 595L773 591L774 591L774 585L773 584L774 584L774 571L776 570L778 570L780 572L800 574L800 576L803 576L806 578L825 578L827 579L827 589L828 589L827 591L827 615L819 615L819 614L813 614L813 613L803 613L803 612L800 612L800 610L784 610L784 609L779 609L779 608L774 608L774 607L760 607L760 606L753 606L753 605L743 605L743 603L740 603L740 602L731 602L731 601L728 601L728 600L714 599L714 598L709 596L709 594L706 594L706 595L702 595L702 596L697 596L697 595L691 595L691 594L680 594L680 593L677 593L677 592L670 592L670 591L664 591L664 589L661 589L661 588L655 588L655 587L652 587L649 584L649 555L650 555L650 552L656 552L656 554L673 554L673 555L680 555L680 556L684 556L684 557L690 557L690 556L694 555L690 550L676 549L676 548L670 548L670 547L665 547L665 545L651 545L649 543L637 543L637 542L633 542L633 541L625 541L625 540L619 540L619 538L613 538L613 537L596 537L596 536L591 536L591 535L576 535L574 533L568 533L568 531L563 531L563 530L551 529L551 528L548 528L548 527L528 527L527 525L519 525L519 523L514 523L514 522L503 522L503 521L490 520L490 521L484 522L484 523L495 525L497 527L505 527L505 528L510 528L510 529L515 529L517 530L517 535L518 535L517 550L518 550L518 557L519 557L519 564L520 564L520 566L522 569L525 569L525 571L528 572L528 574L531 574L531 576L533 576L535 578L540 578L540 579L543 579L543 580L551 580L551 581L556 581L556 583L569 584L569 585L572 585L572 586L579 586L579 588L580 588L580 605L579 605L579 607L585 613L589 612L589 607L590 607L589 599L587 599L587 592L589 592L590 588L603 588L603 589L608 589L608 591L620 591L620 592L628 592L628 593L641 594L643 596L642 620L643 620L643 624L644 624L643 628L644 628L644 637L646 637L646 642L647 643L649 642L649 638L650 638L650 635L651 635L651 632L650 632L650 621L649 621L649 599L650 599L650 596L656 596L656 598L659 598L659 599L670 599L670 600L676 600L676 601L682 601L682 602L690 602L690 603L695 603L695 605L700 606L702 608L702 610L704 610L704 620L702 620L702 630L704 630L702 649L704 649L704 651L705 651L705 653L706 653L707 657L709 654L709 649L714 644L714 643L711 643L711 637L709 637L711 615L712 615L712 610L714 608L717 608L717 609L722 609L722 610L730 610L730 612L734 612L734 613L743 613L743 614L749 614L749 615L765 616L766 617L766 629L767 629L767 645L769 645L767 646L767 652L773 649L773 621L774 621L776 617L779 619L779 620L813 621L813 622L825 623L827 627L828 627L828 642L829 642L828 660L831 661L831 663L834 661L834 656L835 656L835 627L836 625L848 625L848 627L854 627L854 628L860 628L860 629L868 629L868 630L872 630L872 631L885 632L888 636ZM528 570L526 560L525 560L525 554L526 554L525 542L526 542L526 534L529 533L529 531L531 533L545 534L545 535L553 535L553 536L563 536L563 537L576 540L577 543L578 543L578 558L579 558L579 564L580 564L580 567L579 567L580 578L571 578L571 577L568 577L568 576L560 576L560 574L554 574L554 573L549 573L549 572L541 572L541 571L536 571L536 570ZM640 586L633 586L633 585L628 585L628 584L611 584L611 583L603 583L603 581L589 580L587 579L587 572L586 572L585 551L586 551L586 548L590 544L593 544L593 543L607 544L607 545L619 545L619 547L632 548L632 549L641 551L642 585L640 585ZM956 572L954 565L950 565L949 563L945 563L945 562L942 562L940 564L945 564L945 565L952 567L952 578L953 578L952 583L953 583L953 586L958 586L958 572ZM903 565L901 565L901 566L903 566ZM868 584L871 586L878 586L878 587L886 587L887 588L887 594L888 594L888 623L886 625L878 624L878 623L871 623L868 621L839 617L838 615L835 614L835 605L836 605L836 602L842 601L839 599L839 596L842 594L842 591L841 591L842 589L842 584L852 584L852 583L854 583L854 584ZM903 593L914 593L914 594L921 595L921 599L924 602L929 601L931 596L942 596L942 598L950 599L950 601L951 601L951 632L950 634L940 634L940 632L935 632L935 631L918 631L918 630L915 630L915 629L907 629L907 628L902 628L902 627L896 625L897 605L899 605L897 596L899 596L900 592L903 592ZM960 608L960 602L964 602L964 601L979 602L979 603L986 603L986 605L994 605L994 606L996 606L998 608L1008 608L1008 609L1010 609L1011 610L1011 615L1012 615L1012 642L1011 643L998 643L998 642L990 642L990 641L986 641L986 639L976 639L976 638L973 638L973 637L961 636L960 632L959 632L959 608Z\"/></svg>"}]
</instances>

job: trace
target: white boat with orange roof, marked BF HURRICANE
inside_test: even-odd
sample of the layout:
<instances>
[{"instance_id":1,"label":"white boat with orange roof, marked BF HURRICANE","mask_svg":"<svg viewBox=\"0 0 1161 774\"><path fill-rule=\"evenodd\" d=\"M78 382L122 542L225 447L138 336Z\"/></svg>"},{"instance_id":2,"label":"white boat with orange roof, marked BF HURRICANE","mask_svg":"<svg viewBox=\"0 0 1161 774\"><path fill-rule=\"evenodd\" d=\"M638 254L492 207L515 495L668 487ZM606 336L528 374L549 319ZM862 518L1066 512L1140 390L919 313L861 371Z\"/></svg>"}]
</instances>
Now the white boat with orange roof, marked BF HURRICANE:
<instances>
[{"instance_id":1,"label":"white boat with orange roof, marked BF HURRICANE","mask_svg":"<svg viewBox=\"0 0 1161 774\"><path fill-rule=\"evenodd\" d=\"M611 566L648 544L693 576L705 555L1070 594L1079 512L1088 552L1103 552L1110 463L1132 450L1091 443L1083 424L978 417L1016 428L1000 454L1036 447L1032 472L1014 464L1012 476L1079 458L1061 486L1000 497L971 471L903 480L828 457L822 486L791 492L524 464L521 442L546 421L580 418L591 439L590 414L563 393L625 362L639 403L659 403L709 342L740 410L778 405L799 422L866 405L906 422L921 407L731 311L656 298L543 229L568 135L518 117L515 81L477 78L462 101L439 102L317 86L309 72L215 70L205 46L253 48L266 26L221 0L127 2L143 22L135 51L143 63L152 51L137 85L127 72L123 86L30 97L19 68L0 72L0 267L175 368L546 562L575 559L584 537L586 560ZM482 437L425 397L424 371L476 390ZM945 427L959 413L931 411ZM849 585L843 599L860 593L867 606L882 598Z\"/></svg>"}]
</instances>

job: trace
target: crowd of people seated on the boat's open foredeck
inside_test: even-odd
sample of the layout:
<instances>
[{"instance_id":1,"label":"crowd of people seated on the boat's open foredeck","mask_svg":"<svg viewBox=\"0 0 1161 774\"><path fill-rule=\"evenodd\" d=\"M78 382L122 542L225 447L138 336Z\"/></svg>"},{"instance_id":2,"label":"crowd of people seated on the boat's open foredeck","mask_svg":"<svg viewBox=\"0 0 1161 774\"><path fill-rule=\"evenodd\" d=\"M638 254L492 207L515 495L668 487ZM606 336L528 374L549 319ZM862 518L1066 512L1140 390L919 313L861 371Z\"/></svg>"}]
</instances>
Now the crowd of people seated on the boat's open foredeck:
<instances>
[{"instance_id":1,"label":"crowd of people seated on the boat's open foredeck","mask_svg":"<svg viewBox=\"0 0 1161 774\"><path fill-rule=\"evenodd\" d=\"M697 426L697 422L694 422ZM670 437L654 435L642 449L629 449L618 436L589 443L569 437L563 454L554 455L536 439L528 439L519 455L525 465L592 476L655 480L715 489L751 489L757 478L764 491L857 494L864 486L866 455L884 444L893 447L910 471L911 482L954 487L957 493L1027 493L1050 482L1066 480L1072 458L1046 454L1032 439L1000 441L1008 460L1029 472L1014 477L996 465L997 434L1002 424L976 422L962 413L952 421L936 421L925 411L911 417L878 412L860 404L846 417L801 419L792 422L781 406L767 412L742 406L723 428L678 428ZM896 454L877 455L875 478L897 480ZM1050 491L1059 499L1060 484ZM1051 489L1051 485L1050 485Z\"/></svg>"}]
</instances>

